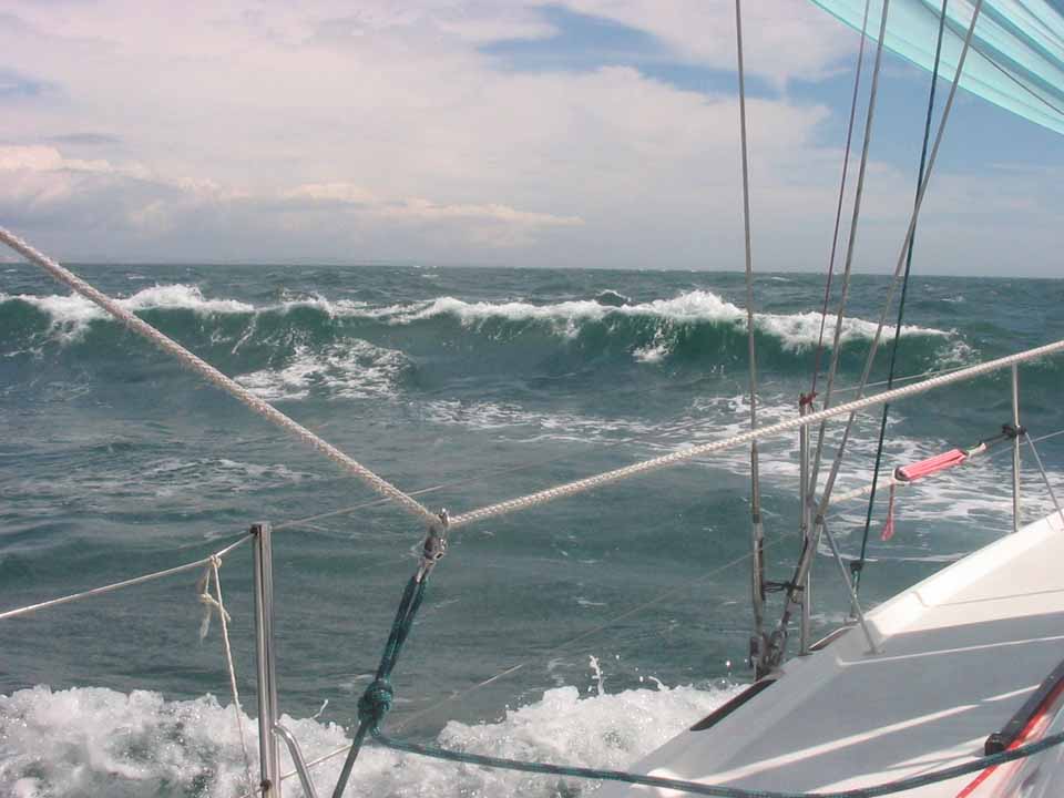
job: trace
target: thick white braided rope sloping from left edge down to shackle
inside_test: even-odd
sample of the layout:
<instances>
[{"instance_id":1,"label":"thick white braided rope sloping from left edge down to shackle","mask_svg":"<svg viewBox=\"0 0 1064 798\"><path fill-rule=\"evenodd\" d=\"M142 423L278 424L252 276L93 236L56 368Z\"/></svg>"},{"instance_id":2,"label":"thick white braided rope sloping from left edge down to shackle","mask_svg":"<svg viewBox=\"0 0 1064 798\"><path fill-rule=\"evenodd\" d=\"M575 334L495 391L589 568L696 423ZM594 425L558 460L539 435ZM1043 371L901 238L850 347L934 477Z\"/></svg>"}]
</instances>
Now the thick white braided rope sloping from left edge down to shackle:
<instances>
[{"instance_id":1,"label":"thick white braided rope sloping from left edge down to shackle","mask_svg":"<svg viewBox=\"0 0 1064 798\"><path fill-rule=\"evenodd\" d=\"M136 317L131 311L126 310L124 307L119 305L114 299L109 297L106 294L98 290L93 286L85 283L83 279L74 275L66 268L63 268L58 263L52 260L47 255L38 252L27 242L22 241L13 233L0 227L0 243L7 244L9 247L14 249L17 253L29 259L30 262L37 264L42 269L48 272L52 277L54 277L60 283L69 286L72 290L76 291L81 296L85 297L90 301L95 303L101 308L111 314L114 318L122 321L126 327L129 327L134 332L147 338L152 344L161 348L163 351L173 355L182 366L192 369L201 377L206 379L212 385L221 388L225 392L235 397L238 401L244 403L247 408L258 413L267 421L276 424L280 429L289 432L295 436L304 443L317 449L319 452L325 454L329 460L335 462L341 469L348 473L354 474L362 482L365 482L370 489L375 490L377 493L380 493L383 497L388 497L400 507L402 507L407 512L416 515L417 518L434 522L436 515L430 513L426 508L423 508L416 499L410 495L407 495L401 490L396 488L393 484L388 482L381 477L378 477L376 473L370 471L368 468L354 460L352 458L345 454L342 451L337 449L335 446L329 443L326 440L323 440L320 437L316 436L314 432L308 430L303 424L294 421L288 418L280 410L275 408L267 401L259 399L257 396L247 390L236 380L231 377L226 377L224 374L218 371L214 366L206 362L200 357L196 357L191 351L185 349L183 346L177 344L172 338L166 337L157 329L152 327L150 324L143 319Z\"/></svg>"}]
</instances>

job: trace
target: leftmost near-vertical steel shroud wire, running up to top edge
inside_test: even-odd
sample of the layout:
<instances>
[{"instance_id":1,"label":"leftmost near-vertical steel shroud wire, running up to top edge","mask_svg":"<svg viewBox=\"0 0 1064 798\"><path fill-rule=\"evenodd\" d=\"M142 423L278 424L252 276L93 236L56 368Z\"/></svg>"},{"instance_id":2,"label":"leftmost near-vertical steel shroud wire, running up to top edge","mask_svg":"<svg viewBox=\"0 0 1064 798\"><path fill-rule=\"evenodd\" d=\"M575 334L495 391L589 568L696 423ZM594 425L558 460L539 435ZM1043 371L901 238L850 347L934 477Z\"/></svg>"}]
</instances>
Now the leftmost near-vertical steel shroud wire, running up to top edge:
<instances>
[{"instance_id":1,"label":"leftmost near-vertical steel shroud wire, running up to top edge","mask_svg":"<svg viewBox=\"0 0 1064 798\"><path fill-rule=\"evenodd\" d=\"M739 139L743 150L743 228L746 241L746 344L750 367L750 429L757 429L757 346L754 341L754 256L750 247L750 175L746 141L746 75L743 69L743 3L735 0L735 44L739 72ZM754 551L751 604L754 635L760 641L765 616L765 529L761 525L761 480L757 440L750 441L750 530Z\"/></svg>"}]
</instances>

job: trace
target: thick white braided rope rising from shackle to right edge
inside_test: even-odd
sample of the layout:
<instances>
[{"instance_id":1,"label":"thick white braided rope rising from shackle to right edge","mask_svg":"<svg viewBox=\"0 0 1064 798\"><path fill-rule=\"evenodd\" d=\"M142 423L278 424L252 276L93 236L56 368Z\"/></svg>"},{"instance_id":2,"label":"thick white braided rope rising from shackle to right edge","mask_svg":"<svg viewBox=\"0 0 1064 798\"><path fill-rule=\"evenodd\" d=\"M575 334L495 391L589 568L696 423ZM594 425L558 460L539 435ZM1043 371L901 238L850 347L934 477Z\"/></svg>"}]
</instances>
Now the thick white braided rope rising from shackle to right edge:
<instances>
[{"instance_id":1,"label":"thick white braided rope rising from shackle to right edge","mask_svg":"<svg viewBox=\"0 0 1064 798\"><path fill-rule=\"evenodd\" d=\"M454 530L459 526L464 526L475 521L483 521L484 519L504 515L507 513L516 512L518 510L525 510L538 504L545 504L546 502L573 495L575 493L583 493L585 491L594 490L612 482L630 479L632 477L638 477L663 468L668 468L671 466L678 466L679 463L688 462L689 460L694 460L695 458L704 454L710 454L725 449L734 449L735 447L749 443L753 440L776 438L785 432L792 432L801 427L818 424L826 419L833 418L835 416L857 413L866 408L882 405L887 401L893 402L911 396L919 396L920 393L925 393L935 388L970 380L992 371L998 371L999 369L1007 368L1013 364L1027 362L1029 360L1035 360L1037 358L1046 357L1047 355L1054 355L1060 351L1064 351L1064 340L1046 344L1045 346L1036 347L1034 349L1027 349L1026 351L1017 352L1015 355L1009 355L1003 358L998 358L996 360L988 360L986 362L982 362L976 366L969 366L968 368L959 369L950 374L932 377L931 379L923 380L922 382L914 382L912 385L902 386L901 388L882 391L881 393L876 393L870 397L855 399L853 401L849 401L843 405L837 405L825 410L818 410L817 412L797 416L768 427L759 427L758 429L749 430L747 432L740 432L732 438L712 441L709 443L703 443L700 446L689 447L687 449L681 449L669 454L663 454L662 457L644 460L642 462L633 463L632 466L626 466L613 471L606 471L594 477L586 477L574 482L567 482L554 488L549 488L525 497L510 499L497 504L490 504L488 507L480 508L479 510L472 510L470 512L452 516L449 526L451 530Z\"/></svg>"}]
</instances>

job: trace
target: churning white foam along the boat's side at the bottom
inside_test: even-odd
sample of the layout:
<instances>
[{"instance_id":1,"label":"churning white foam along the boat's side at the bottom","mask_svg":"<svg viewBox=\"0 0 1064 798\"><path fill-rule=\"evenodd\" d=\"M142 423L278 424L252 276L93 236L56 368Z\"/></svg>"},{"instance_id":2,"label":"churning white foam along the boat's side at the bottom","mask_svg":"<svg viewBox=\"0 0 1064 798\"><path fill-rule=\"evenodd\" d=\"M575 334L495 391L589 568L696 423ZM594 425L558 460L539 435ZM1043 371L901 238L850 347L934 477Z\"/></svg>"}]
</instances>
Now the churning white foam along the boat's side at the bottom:
<instances>
[{"instance_id":1,"label":"churning white foam along the boat's side at the bottom","mask_svg":"<svg viewBox=\"0 0 1064 798\"><path fill-rule=\"evenodd\" d=\"M624 768L737 689L674 687L581 697L576 687L559 687L508 710L497 723L451 722L438 743L493 756ZM250 700L245 697L245 703ZM307 759L348 743L336 724L289 717L283 722ZM244 729L257 768L257 734L250 718L245 717ZM100 687L38 686L0 696L0 740L3 798L147 798L162 792L228 797L246 789L233 709L212 696L167 702L145 690L126 695ZM287 751L282 757L287 771ZM334 757L314 770L320 794L327 795L336 782L341 761ZM571 784L573 789L565 795L594 788L579 780ZM286 787L297 789L295 779ZM371 746L359 758L346 795L548 798L557 790L556 777L462 767Z\"/></svg>"}]
</instances>

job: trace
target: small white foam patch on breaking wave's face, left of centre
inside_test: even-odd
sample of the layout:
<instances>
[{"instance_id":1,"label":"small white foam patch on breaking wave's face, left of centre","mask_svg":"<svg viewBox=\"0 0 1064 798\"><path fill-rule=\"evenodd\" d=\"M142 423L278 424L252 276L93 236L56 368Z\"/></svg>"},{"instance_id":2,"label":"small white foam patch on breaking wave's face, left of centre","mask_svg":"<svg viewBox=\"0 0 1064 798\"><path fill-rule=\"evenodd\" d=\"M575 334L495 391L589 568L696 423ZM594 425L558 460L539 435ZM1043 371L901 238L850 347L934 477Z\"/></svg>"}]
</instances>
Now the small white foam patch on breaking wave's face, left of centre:
<instances>
[{"instance_id":1,"label":"small white foam patch on breaking wave's face, left of centre","mask_svg":"<svg viewBox=\"0 0 1064 798\"><path fill-rule=\"evenodd\" d=\"M332 399L393 397L397 382L409 367L402 352L360 339L327 346L320 351L300 344L287 365L236 377L267 401L299 400L315 387Z\"/></svg>"}]
</instances>

